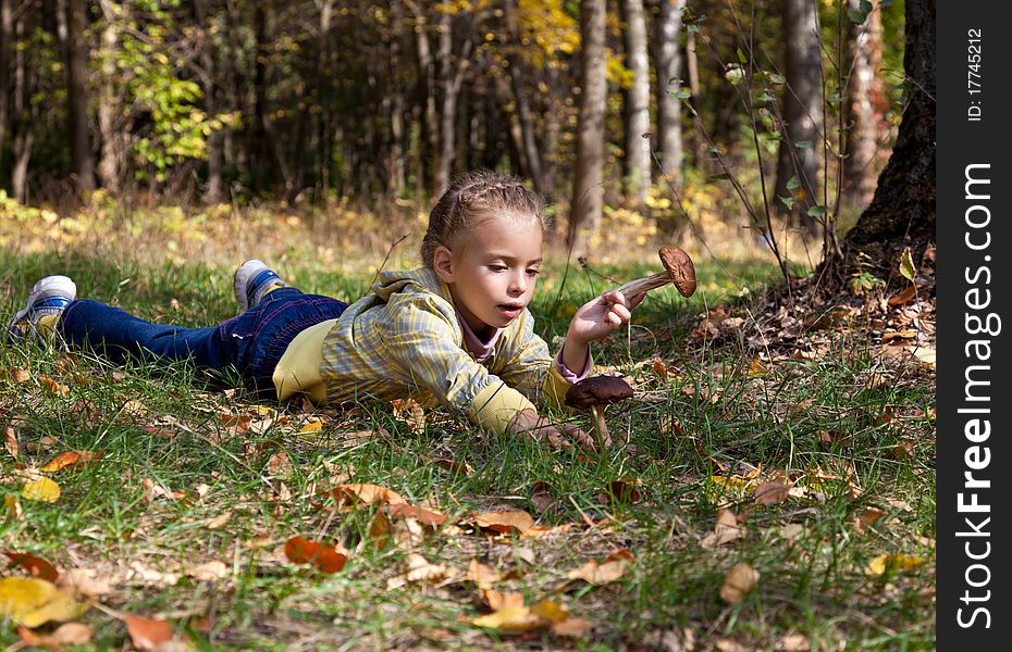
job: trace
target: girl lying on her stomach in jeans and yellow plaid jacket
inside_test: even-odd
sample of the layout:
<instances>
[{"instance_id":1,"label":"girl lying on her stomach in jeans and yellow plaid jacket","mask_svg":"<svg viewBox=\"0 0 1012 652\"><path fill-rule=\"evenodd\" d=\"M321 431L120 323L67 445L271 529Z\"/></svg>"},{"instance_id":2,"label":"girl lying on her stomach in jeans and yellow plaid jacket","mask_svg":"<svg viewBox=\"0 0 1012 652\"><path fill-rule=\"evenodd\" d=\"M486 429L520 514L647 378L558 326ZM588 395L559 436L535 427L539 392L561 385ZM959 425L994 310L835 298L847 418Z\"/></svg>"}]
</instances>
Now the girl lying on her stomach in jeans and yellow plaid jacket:
<instances>
[{"instance_id":1,"label":"girl lying on her stomach in jeans and yellow plaid jacket","mask_svg":"<svg viewBox=\"0 0 1012 652\"><path fill-rule=\"evenodd\" d=\"M75 300L66 276L35 284L11 323L15 337L55 333L113 362L129 356L234 367L266 399L307 396L318 405L414 396L473 424L553 446L593 440L552 424L535 404L559 405L592 368L589 343L627 323L643 296L612 291L582 305L553 360L528 304L542 262L541 199L514 177L454 179L429 216L423 266L384 272L350 305L289 287L258 260L235 273L238 316L218 326L151 324Z\"/></svg>"}]
</instances>

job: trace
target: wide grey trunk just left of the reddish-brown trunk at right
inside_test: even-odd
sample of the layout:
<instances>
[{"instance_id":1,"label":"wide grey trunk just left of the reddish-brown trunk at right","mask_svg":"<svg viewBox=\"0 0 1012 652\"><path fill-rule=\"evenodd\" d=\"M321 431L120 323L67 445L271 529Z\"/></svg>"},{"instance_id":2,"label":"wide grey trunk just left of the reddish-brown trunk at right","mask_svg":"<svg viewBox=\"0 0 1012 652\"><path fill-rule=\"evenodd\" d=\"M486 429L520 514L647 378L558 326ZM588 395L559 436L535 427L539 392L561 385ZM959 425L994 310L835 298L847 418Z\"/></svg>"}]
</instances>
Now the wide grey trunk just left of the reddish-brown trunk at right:
<instances>
[{"instance_id":1,"label":"wide grey trunk just left of the reddish-brown trunk at right","mask_svg":"<svg viewBox=\"0 0 1012 652\"><path fill-rule=\"evenodd\" d=\"M822 50L818 14L813 0L783 0L783 32L787 48L782 100L780 152L777 156L776 197L793 197L799 223L811 235L817 233L809 208L819 203L818 170L822 152ZM800 186L788 188L792 178ZM785 204L776 200L778 211Z\"/></svg>"}]
</instances>

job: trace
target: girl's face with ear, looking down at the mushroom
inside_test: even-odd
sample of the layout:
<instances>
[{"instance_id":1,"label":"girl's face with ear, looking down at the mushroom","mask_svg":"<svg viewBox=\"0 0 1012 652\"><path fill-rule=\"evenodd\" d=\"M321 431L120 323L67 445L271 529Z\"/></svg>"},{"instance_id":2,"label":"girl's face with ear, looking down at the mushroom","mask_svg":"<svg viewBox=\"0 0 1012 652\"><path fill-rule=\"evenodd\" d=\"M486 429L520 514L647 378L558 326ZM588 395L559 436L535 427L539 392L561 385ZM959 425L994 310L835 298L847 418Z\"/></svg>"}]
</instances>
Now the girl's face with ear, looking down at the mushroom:
<instances>
[{"instance_id":1,"label":"girl's face with ear, looking down at the mushroom","mask_svg":"<svg viewBox=\"0 0 1012 652\"><path fill-rule=\"evenodd\" d=\"M505 328L534 296L541 269L541 221L495 215L460 234L454 249L435 250L433 268L477 335Z\"/></svg>"}]
</instances>

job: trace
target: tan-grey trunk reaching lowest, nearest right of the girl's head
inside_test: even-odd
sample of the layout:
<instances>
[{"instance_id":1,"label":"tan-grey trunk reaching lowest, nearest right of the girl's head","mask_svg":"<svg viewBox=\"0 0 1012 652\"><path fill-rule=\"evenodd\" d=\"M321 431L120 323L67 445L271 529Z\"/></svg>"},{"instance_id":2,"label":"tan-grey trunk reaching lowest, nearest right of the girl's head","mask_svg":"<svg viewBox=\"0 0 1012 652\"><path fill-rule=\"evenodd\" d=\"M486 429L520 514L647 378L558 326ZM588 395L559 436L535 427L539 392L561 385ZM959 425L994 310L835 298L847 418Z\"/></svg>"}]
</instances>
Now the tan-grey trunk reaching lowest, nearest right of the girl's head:
<instances>
[{"instance_id":1,"label":"tan-grey trunk reaching lowest, nearest right of the girl's head","mask_svg":"<svg viewBox=\"0 0 1012 652\"><path fill-rule=\"evenodd\" d=\"M601 230L604 209L605 0L580 2L580 115L577 161L569 203L568 244L571 255L588 255Z\"/></svg>"}]
</instances>

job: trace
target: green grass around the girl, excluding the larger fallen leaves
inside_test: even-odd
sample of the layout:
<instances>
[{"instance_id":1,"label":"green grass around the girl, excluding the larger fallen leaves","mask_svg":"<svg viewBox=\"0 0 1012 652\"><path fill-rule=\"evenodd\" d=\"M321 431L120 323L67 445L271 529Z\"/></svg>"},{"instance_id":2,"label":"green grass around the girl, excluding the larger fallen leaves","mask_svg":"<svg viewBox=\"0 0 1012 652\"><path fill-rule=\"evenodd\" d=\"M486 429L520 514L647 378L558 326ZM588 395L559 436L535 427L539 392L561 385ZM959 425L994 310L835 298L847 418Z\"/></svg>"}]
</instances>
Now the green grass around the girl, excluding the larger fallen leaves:
<instances>
[{"instance_id":1,"label":"green grass around the girl, excluding the larger fallen leaves","mask_svg":"<svg viewBox=\"0 0 1012 652\"><path fill-rule=\"evenodd\" d=\"M100 240L48 253L24 242L0 249L0 316L54 269L77 280L81 297L149 319L202 326L234 313L231 272L247 251L219 244L218 263L213 255L181 262L180 250L137 255ZM355 298L371 278L366 265L334 272L312 250L286 247L269 260L307 291ZM596 350L598 364L637 383L632 402L608 409L618 443L601 457L484 435L439 411L418 429L371 403L345 412L275 405L287 425L236 432L239 416L260 417L251 398L186 365L113 368L83 354L0 348L0 369L30 373L23 383L0 378L0 428L13 428L21 462L104 453L51 474L62 489L57 502L21 500L24 519L0 523L0 547L109 580L106 611L81 617L94 628L81 649L128 641L109 610L169 619L202 649L647 650L689 641L702 650L933 649L933 374L879 356L860 323L822 333L815 359L753 368L743 339L702 341L692 331L708 306L736 302L742 287L758 290L774 271L699 262L700 293L686 301L670 288L653 292L635 326ZM608 287L602 276L626 280L646 266L551 267L532 308L541 335L551 342L565 333L575 306ZM42 376L67 393L48 391ZM299 431L310 415L323 428ZM276 467L280 452L291 469ZM0 459L0 494L16 497L23 480L10 454ZM799 496L757 503L755 487L775 478ZM185 496L152 498L146 482ZM335 482L382 485L446 512L456 525L410 551L461 574L478 559L506 575L495 589L522 593L527 604L559 601L593 629L566 638L474 627L470 619L489 610L471 580L387 588L405 575L408 551L372 544L378 507L336 512L307 498ZM721 507L742 518L743 536L704 548ZM572 527L521 538L467 525L472 513L494 509ZM588 519L598 525L588 528ZM342 542L351 551L347 566L324 575L292 564L282 548L297 535ZM569 570L619 549L634 556L620 578L556 592ZM884 553L923 563L867 574ZM207 562L221 563L220 577L195 576ZM738 562L760 579L729 605L719 589ZM3 623L0 644L17 640Z\"/></svg>"}]
</instances>

